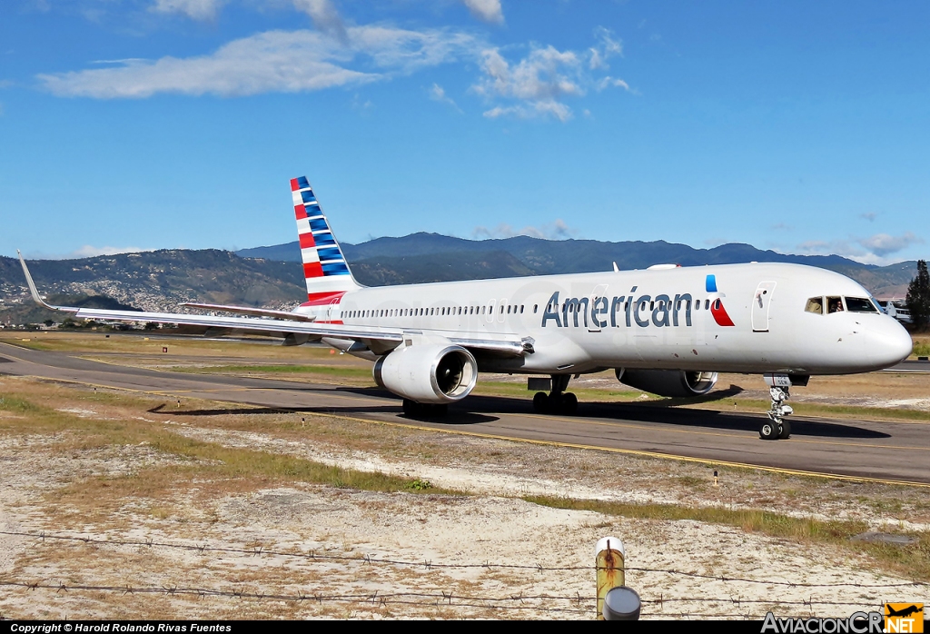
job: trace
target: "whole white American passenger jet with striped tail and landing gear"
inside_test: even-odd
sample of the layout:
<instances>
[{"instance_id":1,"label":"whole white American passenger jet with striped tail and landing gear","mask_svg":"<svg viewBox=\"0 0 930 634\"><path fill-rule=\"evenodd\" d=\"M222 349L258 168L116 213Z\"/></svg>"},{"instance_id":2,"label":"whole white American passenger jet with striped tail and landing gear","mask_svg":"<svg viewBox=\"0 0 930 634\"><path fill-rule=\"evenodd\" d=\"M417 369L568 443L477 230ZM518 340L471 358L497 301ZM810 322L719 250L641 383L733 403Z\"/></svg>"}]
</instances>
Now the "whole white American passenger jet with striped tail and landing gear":
<instances>
[{"instance_id":1,"label":"whole white American passenger jet with striped tail and landing gear","mask_svg":"<svg viewBox=\"0 0 930 634\"><path fill-rule=\"evenodd\" d=\"M322 341L374 362L406 416L441 416L481 372L525 374L540 413L576 412L572 376L613 369L633 388L707 394L718 373L764 376L772 399L759 435L790 436L785 402L810 376L871 372L906 359L907 331L870 293L833 271L785 263L540 275L365 287L358 284L305 177L290 181L307 301L293 311L187 303L216 314L49 306L25 259L33 299L76 318L192 324L208 334ZM241 315L241 316L240 316ZM539 377L539 376L542 377ZM534 387L536 386L536 387ZM548 392L548 393L547 393Z\"/></svg>"}]
</instances>

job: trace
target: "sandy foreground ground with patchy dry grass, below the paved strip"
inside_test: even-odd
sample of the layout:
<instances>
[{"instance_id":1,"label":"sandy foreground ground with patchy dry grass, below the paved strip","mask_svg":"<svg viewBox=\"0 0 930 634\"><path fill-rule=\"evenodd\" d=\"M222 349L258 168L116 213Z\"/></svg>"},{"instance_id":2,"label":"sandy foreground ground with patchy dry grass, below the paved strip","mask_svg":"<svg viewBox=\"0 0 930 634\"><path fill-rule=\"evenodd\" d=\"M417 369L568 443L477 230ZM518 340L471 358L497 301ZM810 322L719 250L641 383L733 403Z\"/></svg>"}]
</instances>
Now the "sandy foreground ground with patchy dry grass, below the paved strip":
<instances>
[{"instance_id":1,"label":"sandy foreground ground with patchy dry grass, below the paved strip","mask_svg":"<svg viewBox=\"0 0 930 634\"><path fill-rule=\"evenodd\" d=\"M912 398L909 385L883 383L883 398ZM588 619L605 535L626 548L644 618L842 616L928 598L910 583L923 572L898 563L926 548L926 488L719 468L715 486L711 464L165 404L0 376L0 615ZM401 484L355 486L353 472ZM870 550L655 505L920 541Z\"/></svg>"}]
</instances>

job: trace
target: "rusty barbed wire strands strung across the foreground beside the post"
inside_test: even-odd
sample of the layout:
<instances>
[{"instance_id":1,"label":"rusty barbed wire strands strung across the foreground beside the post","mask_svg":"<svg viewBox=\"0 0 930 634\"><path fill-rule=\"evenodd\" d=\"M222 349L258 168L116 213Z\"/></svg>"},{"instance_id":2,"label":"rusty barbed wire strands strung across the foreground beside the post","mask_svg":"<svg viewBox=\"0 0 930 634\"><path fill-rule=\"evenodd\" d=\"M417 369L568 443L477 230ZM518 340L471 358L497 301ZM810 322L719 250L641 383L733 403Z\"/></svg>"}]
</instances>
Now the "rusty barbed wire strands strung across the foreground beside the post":
<instances>
[{"instance_id":1,"label":"rusty barbed wire strands strung across the foreground beside the post","mask_svg":"<svg viewBox=\"0 0 930 634\"><path fill-rule=\"evenodd\" d=\"M526 572L537 572L538 574L554 572L590 572L593 576L598 568L594 565L581 566L546 566L542 564L513 564L513 563L492 563L490 561L483 563L443 563L434 561L405 561L390 558L379 558L369 555L332 555L321 554L313 551L299 552L293 550L278 550L274 548L265 548L256 546L252 548L234 548L208 546L206 544L181 544L172 542L161 542L153 539L114 539L111 537L100 538L89 535L56 535L46 532L23 532L23 531L0 531L0 535L19 536L35 539L37 541L53 542L70 542L83 543L98 546L119 546L119 547L136 547L136 548L169 548L193 552L200 552L205 556L208 554L230 554L246 555L251 557L290 557L303 561L334 561L344 563L357 563L369 566L405 566L410 568L419 568L424 571L441 571L441 570L518 570ZM740 576L727 575L708 575L695 573L673 568L650 568L627 566L625 570L636 573L658 573L662 575L680 575L693 577L707 581L732 582L742 584L759 584L767 587L780 588L806 588L810 590L826 588L861 588L871 590L901 590L903 588L928 588L930 584L921 581L912 582L895 582L895 583L859 583L853 581L833 582L833 583L810 583L810 582L793 582L779 581L772 579L752 579ZM233 589L219 588L198 588L184 586L106 586L106 585L87 585L87 584L70 584L63 581L52 582L47 580L41 581L22 581L0 576L0 588L23 588L27 590L48 589L54 590L56 594L70 592L112 592L121 595L153 595L163 594L169 596L186 596L196 598L223 597L230 599L247 599L257 601L294 601L294 602L317 602L317 603L355 603L366 606L388 606L404 605L417 607L459 607L459 608L478 608L499 611L526 611L531 610L539 613L551 614L576 614L588 615L593 614L596 598L591 595L582 595L576 593L574 596L565 596L558 594L526 594L524 592L505 594L502 596L483 596L478 594L459 594L452 591L432 591L432 592L382 592L382 591L355 591L345 594L340 593L321 593L312 591L295 591L292 593L275 593L259 592L247 590L245 586ZM667 612L665 606L674 606L681 603L701 603L701 604L718 604L732 605L735 610L741 608L752 608L760 606L784 606L784 607L806 607L813 612L815 607L837 607L852 608L861 607L863 601L832 601L815 599L813 595L807 599L744 599L739 596L715 597L715 596L690 596L690 597L665 597L659 594L658 597L648 597L642 600L644 605L651 605L658 608L653 614L661 614L667 617L676 618L755 618L761 617L761 614L751 609L745 612L734 612L731 614L721 614L714 612L710 614L697 612ZM876 609L880 609L881 603L876 603Z\"/></svg>"}]
</instances>

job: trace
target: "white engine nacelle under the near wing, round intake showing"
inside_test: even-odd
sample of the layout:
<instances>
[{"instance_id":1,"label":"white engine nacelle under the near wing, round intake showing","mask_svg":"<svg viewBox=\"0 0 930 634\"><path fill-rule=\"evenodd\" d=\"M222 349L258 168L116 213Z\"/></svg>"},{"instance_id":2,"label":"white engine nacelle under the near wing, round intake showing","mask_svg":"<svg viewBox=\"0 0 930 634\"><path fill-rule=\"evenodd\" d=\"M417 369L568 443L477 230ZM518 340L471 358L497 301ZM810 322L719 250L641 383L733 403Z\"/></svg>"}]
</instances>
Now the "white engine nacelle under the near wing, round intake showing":
<instances>
[{"instance_id":1,"label":"white engine nacelle under the near wing, round intake showing","mask_svg":"<svg viewBox=\"0 0 930 634\"><path fill-rule=\"evenodd\" d=\"M468 396L478 380L472 353L450 343L402 346L381 357L375 382L417 403L455 403Z\"/></svg>"}]
</instances>

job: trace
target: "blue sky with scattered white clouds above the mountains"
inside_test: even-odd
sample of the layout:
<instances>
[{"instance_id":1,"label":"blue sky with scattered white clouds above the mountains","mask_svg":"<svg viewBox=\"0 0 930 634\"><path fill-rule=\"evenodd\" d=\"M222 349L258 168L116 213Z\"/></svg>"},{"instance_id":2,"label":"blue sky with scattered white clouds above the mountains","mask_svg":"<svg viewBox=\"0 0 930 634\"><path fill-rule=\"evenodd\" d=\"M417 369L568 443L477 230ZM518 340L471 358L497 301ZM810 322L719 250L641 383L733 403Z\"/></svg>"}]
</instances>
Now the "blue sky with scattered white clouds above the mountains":
<instances>
[{"instance_id":1,"label":"blue sky with scattered white clouds above the mountains","mask_svg":"<svg viewBox=\"0 0 930 634\"><path fill-rule=\"evenodd\" d=\"M930 5L5 0L0 254L296 237L930 251Z\"/></svg>"}]
</instances>

